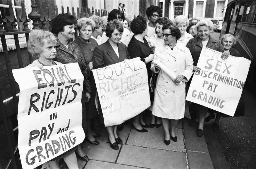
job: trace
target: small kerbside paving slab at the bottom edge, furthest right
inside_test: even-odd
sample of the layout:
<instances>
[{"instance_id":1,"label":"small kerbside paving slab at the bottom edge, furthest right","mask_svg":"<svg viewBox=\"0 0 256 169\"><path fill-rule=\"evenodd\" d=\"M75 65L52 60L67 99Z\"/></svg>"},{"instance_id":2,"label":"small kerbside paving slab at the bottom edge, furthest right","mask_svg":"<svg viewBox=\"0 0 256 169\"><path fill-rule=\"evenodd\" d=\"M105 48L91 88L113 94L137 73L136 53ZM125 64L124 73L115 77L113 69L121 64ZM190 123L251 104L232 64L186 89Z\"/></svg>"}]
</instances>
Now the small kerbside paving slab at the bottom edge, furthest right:
<instances>
[{"instance_id":1,"label":"small kerbside paving slab at the bottom edge, furthest right","mask_svg":"<svg viewBox=\"0 0 256 169\"><path fill-rule=\"evenodd\" d=\"M187 151L187 160L190 169L213 169L210 155L208 153Z\"/></svg>"}]
</instances>

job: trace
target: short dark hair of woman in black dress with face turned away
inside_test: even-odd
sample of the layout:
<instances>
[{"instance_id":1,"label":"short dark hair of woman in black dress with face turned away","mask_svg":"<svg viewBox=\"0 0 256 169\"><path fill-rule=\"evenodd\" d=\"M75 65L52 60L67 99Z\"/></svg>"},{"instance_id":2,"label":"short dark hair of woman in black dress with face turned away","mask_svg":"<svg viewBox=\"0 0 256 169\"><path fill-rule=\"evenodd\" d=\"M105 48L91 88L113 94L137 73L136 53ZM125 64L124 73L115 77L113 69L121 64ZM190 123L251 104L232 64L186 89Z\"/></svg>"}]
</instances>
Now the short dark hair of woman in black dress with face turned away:
<instances>
[{"instance_id":1,"label":"short dark hair of woman in black dress with face turned away","mask_svg":"<svg viewBox=\"0 0 256 169\"><path fill-rule=\"evenodd\" d=\"M142 34L146 28L147 19L145 16L139 15L138 17L134 18L133 21L131 21L130 29L135 35Z\"/></svg>"}]
</instances>

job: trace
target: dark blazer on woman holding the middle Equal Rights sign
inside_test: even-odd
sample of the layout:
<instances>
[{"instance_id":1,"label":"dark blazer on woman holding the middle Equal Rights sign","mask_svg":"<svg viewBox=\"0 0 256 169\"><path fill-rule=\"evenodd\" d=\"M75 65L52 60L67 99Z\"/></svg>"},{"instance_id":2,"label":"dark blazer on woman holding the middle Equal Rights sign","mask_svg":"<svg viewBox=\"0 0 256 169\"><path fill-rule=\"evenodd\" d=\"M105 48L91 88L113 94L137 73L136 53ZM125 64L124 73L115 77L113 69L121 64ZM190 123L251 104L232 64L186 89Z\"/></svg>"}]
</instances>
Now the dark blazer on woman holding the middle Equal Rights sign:
<instances>
[{"instance_id":1,"label":"dark blazer on woman holding the middle Equal Rights sign","mask_svg":"<svg viewBox=\"0 0 256 169\"><path fill-rule=\"evenodd\" d=\"M126 45L118 43L117 46L119 58L108 40L96 47L93 52L93 68L97 69L119 63L125 59L130 59Z\"/></svg>"}]
</instances>

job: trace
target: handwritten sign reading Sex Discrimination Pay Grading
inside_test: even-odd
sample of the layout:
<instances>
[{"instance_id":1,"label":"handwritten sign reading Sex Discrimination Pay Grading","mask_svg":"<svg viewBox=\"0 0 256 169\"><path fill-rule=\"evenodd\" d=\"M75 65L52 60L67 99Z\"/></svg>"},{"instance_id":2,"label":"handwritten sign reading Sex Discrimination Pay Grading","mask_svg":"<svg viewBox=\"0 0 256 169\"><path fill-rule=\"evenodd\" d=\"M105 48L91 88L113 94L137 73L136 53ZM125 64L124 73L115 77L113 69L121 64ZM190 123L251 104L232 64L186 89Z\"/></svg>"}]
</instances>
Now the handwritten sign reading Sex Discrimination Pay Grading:
<instances>
[{"instance_id":1,"label":"handwritten sign reading Sex Discrimination Pay Grading","mask_svg":"<svg viewBox=\"0 0 256 169\"><path fill-rule=\"evenodd\" d=\"M203 48L186 100L234 116L245 86L250 60L233 57L223 60L221 52Z\"/></svg>"}]
</instances>

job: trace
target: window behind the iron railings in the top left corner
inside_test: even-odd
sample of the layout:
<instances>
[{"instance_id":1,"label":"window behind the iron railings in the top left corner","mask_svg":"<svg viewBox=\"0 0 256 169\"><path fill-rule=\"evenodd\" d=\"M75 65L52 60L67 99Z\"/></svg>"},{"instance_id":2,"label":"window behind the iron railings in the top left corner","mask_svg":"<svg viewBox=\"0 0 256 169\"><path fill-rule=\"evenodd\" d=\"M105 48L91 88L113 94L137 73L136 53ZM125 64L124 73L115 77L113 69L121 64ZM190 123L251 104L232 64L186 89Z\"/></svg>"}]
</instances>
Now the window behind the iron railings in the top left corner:
<instances>
[{"instance_id":1,"label":"window behind the iron railings in the top left corner","mask_svg":"<svg viewBox=\"0 0 256 169\"><path fill-rule=\"evenodd\" d=\"M14 16L15 18L21 18L21 2L22 0L0 0L0 12L1 12L1 16L2 18L5 18L6 16L10 16L10 10L9 10L9 3L8 1L11 2L11 5L13 7L13 11L14 11ZM25 5L25 4L24 4ZM25 6L26 8L26 6ZM12 29L11 23L3 23L4 29L7 32L10 32ZM17 23L17 29L19 31L23 30L23 25L21 22Z\"/></svg>"}]
</instances>

